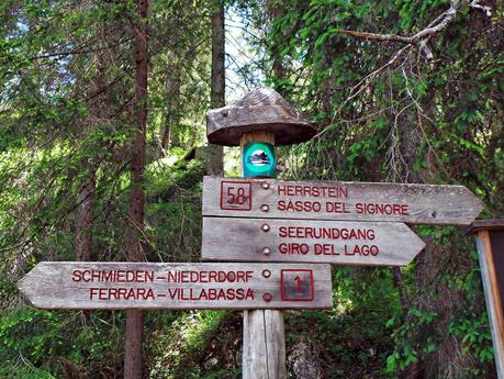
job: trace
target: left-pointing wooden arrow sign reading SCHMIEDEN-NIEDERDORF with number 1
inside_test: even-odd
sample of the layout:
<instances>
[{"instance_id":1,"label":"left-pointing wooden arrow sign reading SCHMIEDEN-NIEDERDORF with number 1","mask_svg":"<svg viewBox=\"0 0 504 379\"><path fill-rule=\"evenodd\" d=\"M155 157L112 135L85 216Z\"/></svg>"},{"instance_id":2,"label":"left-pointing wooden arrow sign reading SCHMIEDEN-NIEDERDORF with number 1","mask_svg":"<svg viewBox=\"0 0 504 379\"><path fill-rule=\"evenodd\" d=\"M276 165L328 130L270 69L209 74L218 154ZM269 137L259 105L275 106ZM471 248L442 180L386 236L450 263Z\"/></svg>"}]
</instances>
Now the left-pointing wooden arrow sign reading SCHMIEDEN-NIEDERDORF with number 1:
<instances>
[{"instance_id":1,"label":"left-pointing wooden arrow sign reading SCHMIEDEN-NIEDERDORF with number 1","mask_svg":"<svg viewBox=\"0 0 504 379\"><path fill-rule=\"evenodd\" d=\"M43 261L18 288L41 309L331 309L329 265Z\"/></svg>"}]
</instances>

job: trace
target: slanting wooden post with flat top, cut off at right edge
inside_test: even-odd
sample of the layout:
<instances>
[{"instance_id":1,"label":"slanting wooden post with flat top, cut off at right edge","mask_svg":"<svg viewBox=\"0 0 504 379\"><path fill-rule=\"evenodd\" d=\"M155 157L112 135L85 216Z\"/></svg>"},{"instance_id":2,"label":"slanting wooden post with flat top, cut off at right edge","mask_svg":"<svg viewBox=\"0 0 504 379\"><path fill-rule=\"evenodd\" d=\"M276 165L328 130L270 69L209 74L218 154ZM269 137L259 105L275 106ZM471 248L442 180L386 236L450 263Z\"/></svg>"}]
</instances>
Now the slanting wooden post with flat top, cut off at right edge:
<instances>
[{"instance_id":1,"label":"slanting wooden post with flat top, cut off at right edge","mask_svg":"<svg viewBox=\"0 0 504 379\"><path fill-rule=\"evenodd\" d=\"M497 378L504 379L504 220L474 221L481 277L492 330Z\"/></svg>"}]
</instances>

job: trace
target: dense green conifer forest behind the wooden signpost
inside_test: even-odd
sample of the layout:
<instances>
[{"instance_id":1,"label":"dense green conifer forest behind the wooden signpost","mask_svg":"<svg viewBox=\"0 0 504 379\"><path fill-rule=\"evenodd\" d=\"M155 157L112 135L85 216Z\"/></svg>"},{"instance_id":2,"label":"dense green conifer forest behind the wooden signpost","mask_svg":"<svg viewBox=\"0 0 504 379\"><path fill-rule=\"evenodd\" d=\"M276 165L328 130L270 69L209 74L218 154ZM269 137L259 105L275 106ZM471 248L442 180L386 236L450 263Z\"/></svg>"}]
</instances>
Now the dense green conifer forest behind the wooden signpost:
<instances>
[{"instance_id":1,"label":"dense green conifer forest behind the wooden signpost","mask_svg":"<svg viewBox=\"0 0 504 379\"><path fill-rule=\"evenodd\" d=\"M1 1L0 377L240 376L239 312L41 311L14 283L42 260L199 260L222 172L204 114L257 86L318 130L280 177L464 185L503 218L502 5ZM285 313L293 378L495 378L472 238L414 228L407 267L334 267L332 311Z\"/></svg>"}]
</instances>

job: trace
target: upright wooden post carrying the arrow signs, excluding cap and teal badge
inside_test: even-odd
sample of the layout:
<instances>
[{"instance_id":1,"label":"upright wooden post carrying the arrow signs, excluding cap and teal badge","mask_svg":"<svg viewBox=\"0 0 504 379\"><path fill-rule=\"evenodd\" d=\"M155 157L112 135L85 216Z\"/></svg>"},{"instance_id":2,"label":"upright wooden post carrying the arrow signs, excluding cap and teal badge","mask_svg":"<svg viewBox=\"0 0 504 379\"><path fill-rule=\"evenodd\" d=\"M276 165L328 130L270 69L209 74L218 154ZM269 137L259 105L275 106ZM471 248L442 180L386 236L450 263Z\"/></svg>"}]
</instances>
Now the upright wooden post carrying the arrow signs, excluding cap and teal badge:
<instances>
[{"instance_id":1,"label":"upright wooden post carrying the arrow signs, excluding cap and teal badge","mask_svg":"<svg viewBox=\"0 0 504 379\"><path fill-rule=\"evenodd\" d=\"M264 142L275 146L275 134L266 131L244 133L242 148L242 176L244 146ZM285 328L283 312L277 310L244 311L243 379L284 379Z\"/></svg>"}]
</instances>

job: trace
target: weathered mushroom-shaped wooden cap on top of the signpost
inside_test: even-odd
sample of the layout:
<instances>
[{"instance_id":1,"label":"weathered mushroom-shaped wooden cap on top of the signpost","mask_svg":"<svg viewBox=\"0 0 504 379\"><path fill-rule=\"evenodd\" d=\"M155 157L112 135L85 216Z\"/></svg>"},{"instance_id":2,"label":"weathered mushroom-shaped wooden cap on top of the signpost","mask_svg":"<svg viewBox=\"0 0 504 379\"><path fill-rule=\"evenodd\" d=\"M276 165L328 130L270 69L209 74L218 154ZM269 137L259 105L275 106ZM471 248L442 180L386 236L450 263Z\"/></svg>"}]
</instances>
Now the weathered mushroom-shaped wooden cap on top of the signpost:
<instances>
[{"instance_id":1,"label":"weathered mushroom-shaped wooden cap on top of the signpost","mask_svg":"<svg viewBox=\"0 0 504 379\"><path fill-rule=\"evenodd\" d=\"M206 136L211 144L239 146L247 132L271 132L277 145L290 145L312 138L316 130L276 90L259 88L235 104L206 112Z\"/></svg>"}]
</instances>

